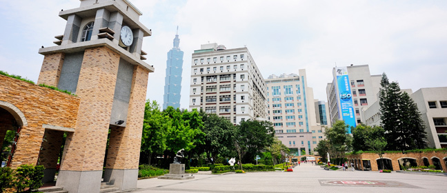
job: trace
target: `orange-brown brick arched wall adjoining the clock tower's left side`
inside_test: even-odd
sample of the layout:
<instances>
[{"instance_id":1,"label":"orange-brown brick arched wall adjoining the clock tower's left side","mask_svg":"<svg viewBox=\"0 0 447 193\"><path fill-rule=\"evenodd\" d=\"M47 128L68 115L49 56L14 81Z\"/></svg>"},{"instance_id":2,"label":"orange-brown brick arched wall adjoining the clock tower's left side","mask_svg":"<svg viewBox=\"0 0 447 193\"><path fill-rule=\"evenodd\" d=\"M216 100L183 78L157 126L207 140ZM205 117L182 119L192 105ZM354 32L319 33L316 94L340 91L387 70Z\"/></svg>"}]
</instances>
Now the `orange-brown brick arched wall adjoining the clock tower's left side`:
<instances>
[{"instance_id":1,"label":"orange-brown brick arched wall adjoining the clock tower's left side","mask_svg":"<svg viewBox=\"0 0 447 193\"><path fill-rule=\"evenodd\" d=\"M0 101L15 105L28 126L20 132L12 167L36 164L45 129L43 124L75 128L80 99L32 83L0 75Z\"/></svg>"}]
</instances>

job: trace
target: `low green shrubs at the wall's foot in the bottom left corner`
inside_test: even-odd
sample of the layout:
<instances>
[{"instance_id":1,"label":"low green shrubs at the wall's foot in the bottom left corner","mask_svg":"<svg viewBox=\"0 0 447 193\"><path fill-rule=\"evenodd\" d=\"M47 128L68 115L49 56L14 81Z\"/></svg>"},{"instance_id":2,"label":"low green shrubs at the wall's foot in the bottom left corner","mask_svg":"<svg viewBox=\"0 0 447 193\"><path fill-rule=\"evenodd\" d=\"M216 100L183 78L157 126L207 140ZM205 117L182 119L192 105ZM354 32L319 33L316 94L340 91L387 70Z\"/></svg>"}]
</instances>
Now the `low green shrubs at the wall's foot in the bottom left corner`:
<instances>
[{"instance_id":1,"label":"low green shrubs at the wall's foot in the bottom left corner","mask_svg":"<svg viewBox=\"0 0 447 193\"><path fill-rule=\"evenodd\" d=\"M43 185L43 165L20 165L16 170L10 167L0 167L0 192L7 188L15 188L23 192L26 188L37 190Z\"/></svg>"}]
</instances>

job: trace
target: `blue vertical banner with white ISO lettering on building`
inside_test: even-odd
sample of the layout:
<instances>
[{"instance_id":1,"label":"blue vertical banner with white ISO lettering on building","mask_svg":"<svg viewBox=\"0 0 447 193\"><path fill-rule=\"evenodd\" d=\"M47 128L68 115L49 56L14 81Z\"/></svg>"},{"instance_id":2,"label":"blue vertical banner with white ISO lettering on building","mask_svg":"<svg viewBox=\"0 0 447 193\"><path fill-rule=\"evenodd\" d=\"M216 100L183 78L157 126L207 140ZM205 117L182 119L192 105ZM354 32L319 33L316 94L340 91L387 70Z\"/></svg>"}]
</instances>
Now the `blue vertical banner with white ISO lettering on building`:
<instances>
[{"instance_id":1,"label":"blue vertical banner with white ISO lettering on building","mask_svg":"<svg viewBox=\"0 0 447 193\"><path fill-rule=\"evenodd\" d=\"M354 108L352 107L352 94L350 90L350 81L348 77L348 68L337 67L335 68L337 74L338 93L341 106L341 119L343 119L346 125L355 127ZM348 133L351 133L350 127Z\"/></svg>"}]
</instances>

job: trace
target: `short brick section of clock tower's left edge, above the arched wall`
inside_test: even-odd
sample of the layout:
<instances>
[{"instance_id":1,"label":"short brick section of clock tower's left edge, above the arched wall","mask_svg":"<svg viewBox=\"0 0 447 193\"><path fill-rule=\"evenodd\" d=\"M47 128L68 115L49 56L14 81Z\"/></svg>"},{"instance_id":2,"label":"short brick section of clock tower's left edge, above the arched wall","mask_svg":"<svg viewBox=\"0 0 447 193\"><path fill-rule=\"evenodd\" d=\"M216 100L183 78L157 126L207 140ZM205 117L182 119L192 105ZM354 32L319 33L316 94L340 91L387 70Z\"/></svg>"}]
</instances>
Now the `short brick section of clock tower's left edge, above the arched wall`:
<instances>
[{"instance_id":1,"label":"short brick section of clock tower's left edge, above the arched wall","mask_svg":"<svg viewBox=\"0 0 447 193\"><path fill-rule=\"evenodd\" d=\"M47 54L43 58L41 72L37 85L45 83L46 85L57 86L59 77L61 77L61 70L65 53L58 52L54 54Z\"/></svg>"}]
</instances>

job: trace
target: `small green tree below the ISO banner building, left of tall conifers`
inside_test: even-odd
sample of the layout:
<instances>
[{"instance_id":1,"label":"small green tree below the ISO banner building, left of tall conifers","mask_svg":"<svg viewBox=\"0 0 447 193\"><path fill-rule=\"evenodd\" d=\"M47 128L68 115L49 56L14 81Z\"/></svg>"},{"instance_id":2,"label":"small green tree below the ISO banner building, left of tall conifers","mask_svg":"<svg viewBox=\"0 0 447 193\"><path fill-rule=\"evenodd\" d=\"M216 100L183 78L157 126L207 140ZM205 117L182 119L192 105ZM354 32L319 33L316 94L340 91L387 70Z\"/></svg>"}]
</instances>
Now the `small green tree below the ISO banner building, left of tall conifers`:
<instances>
[{"instance_id":1,"label":"small green tree below the ISO banner building, left of tall conifers","mask_svg":"<svg viewBox=\"0 0 447 193\"><path fill-rule=\"evenodd\" d=\"M357 125L351 130L352 149L357 151L367 151L369 148L365 144L368 139L377 139L384 136L385 130L379 126Z\"/></svg>"}]
</instances>

